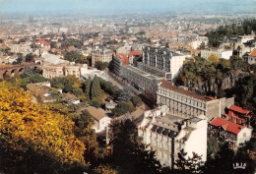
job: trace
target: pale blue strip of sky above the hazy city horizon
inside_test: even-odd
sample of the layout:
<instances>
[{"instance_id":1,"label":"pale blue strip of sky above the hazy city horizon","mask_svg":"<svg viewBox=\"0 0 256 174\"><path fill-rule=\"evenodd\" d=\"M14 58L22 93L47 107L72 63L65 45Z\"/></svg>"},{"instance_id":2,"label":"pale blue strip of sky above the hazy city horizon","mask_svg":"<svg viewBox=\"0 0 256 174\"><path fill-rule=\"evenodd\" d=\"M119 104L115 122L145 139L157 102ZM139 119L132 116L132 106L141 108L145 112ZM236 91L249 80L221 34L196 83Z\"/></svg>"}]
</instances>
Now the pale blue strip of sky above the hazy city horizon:
<instances>
[{"instance_id":1,"label":"pale blue strip of sky above the hazy city horizon","mask_svg":"<svg viewBox=\"0 0 256 174\"><path fill-rule=\"evenodd\" d=\"M0 12L149 9L256 12L256 0L0 0Z\"/></svg>"}]
</instances>

